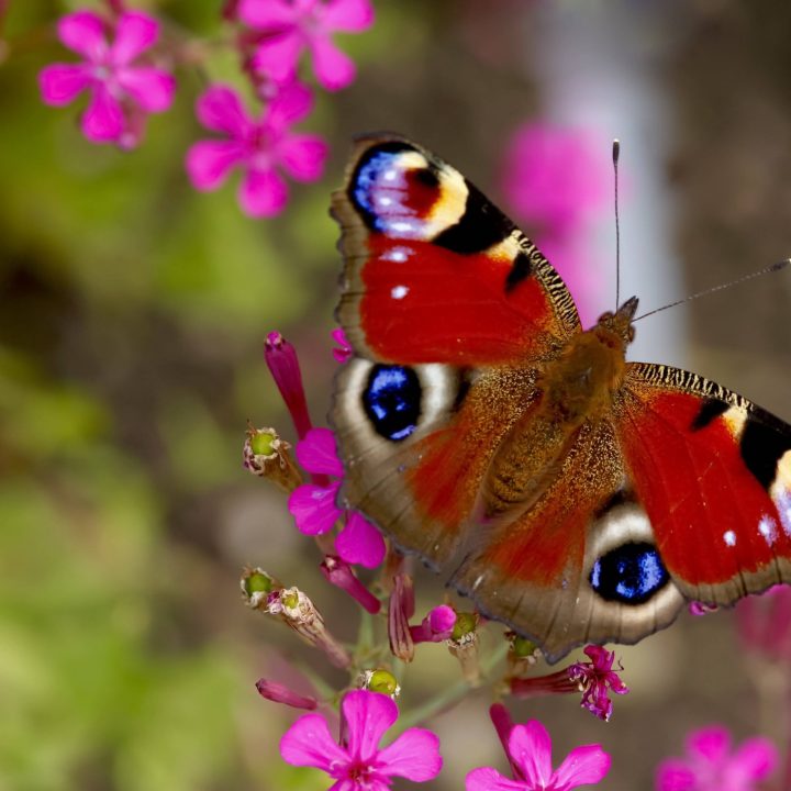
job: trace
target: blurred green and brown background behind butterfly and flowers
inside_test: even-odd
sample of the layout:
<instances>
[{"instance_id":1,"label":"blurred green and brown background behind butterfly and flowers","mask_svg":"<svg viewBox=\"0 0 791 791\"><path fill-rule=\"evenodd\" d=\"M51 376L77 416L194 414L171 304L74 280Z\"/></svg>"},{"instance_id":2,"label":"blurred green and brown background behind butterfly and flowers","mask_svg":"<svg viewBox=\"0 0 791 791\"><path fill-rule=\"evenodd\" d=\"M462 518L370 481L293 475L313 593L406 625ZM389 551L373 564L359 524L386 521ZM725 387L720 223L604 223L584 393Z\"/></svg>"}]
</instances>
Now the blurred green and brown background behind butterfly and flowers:
<instances>
[{"instance_id":1,"label":"blurred green and brown background behind butterfly and flowers","mask_svg":"<svg viewBox=\"0 0 791 791\"><path fill-rule=\"evenodd\" d=\"M120 153L38 97L40 68L69 59L53 23L77 4L0 3L2 791L326 787L280 761L294 714L253 686L301 664L325 671L242 605L239 569L300 584L344 637L354 624L285 499L242 469L241 446L248 417L293 438L261 357L272 328L299 348L323 422L339 266L328 194L354 134L408 134L501 203L503 152L522 124L595 135L608 189L620 137L622 297L645 310L791 255L784 0L375 5L375 26L343 41L356 82L320 93L304 124L330 140L325 177L296 187L280 218L254 221L232 188L197 193L182 164L202 136L205 75L239 81L233 54L180 69L174 109ZM223 34L219 0L140 7L190 35ZM577 247L589 290L576 296L593 320L614 302L613 225L608 208ZM790 308L791 276L751 281L640 322L633 358L693 367L788 421ZM420 611L439 588L419 577ZM571 698L514 706L549 726L556 757L603 744L602 788L650 789L660 758L706 723L787 738L782 684L745 656L732 613L682 616L620 653L632 693L610 724ZM442 646L422 648L404 705L456 672ZM432 723L447 765L433 788L504 769L488 703L471 694Z\"/></svg>"}]
</instances>

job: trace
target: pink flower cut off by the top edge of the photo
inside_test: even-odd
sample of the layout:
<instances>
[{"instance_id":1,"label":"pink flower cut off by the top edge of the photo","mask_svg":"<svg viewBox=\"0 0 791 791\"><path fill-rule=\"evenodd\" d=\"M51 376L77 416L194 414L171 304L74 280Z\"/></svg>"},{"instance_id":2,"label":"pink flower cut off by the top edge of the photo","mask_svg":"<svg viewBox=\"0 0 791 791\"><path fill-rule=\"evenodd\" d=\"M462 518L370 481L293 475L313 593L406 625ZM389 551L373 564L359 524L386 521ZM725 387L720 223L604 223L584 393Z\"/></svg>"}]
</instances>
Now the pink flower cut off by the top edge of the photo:
<instances>
[{"instance_id":1,"label":"pink flower cut off by the top edge of the photo","mask_svg":"<svg viewBox=\"0 0 791 791\"><path fill-rule=\"evenodd\" d=\"M242 0L238 15L261 33L254 68L288 82L309 49L316 79L327 90L345 88L355 78L354 62L335 46L332 34L360 33L374 23L369 0Z\"/></svg>"}]
</instances>

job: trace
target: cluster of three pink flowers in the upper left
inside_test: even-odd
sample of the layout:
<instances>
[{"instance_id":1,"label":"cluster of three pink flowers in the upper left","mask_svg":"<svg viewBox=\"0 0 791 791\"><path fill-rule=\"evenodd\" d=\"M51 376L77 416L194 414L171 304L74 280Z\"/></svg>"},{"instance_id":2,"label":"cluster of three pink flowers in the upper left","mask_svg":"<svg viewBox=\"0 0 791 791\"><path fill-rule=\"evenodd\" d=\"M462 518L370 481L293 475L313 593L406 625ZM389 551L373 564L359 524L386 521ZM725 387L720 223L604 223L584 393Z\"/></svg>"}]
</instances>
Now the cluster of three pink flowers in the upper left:
<instances>
[{"instance_id":1,"label":"cluster of three pink flowers in the upper left","mask_svg":"<svg viewBox=\"0 0 791 791\"><path fill-rule=\"evenodd\" d=\"M241 76L260 109L250 113L236 88L210 83L198 99L197 115L219 136L190 147L187 174L196 189L208 191L239 170L242 210L253 218L269 218L288 201L285 176L316 180L328 153L319 135L291 129L313 107L310 88L299 80L302 56L309 54L322 88L345 88L355 78L355 66L335 45L334 34L367 30L374 9L370 0L233 0L222 15L234 27ZM155 18L124 10L119 2L110 3L105 14L66 14L58 21L57 35L81 60L42 70L44 102L62 107L87 93L85 136L92 143L134 148L147 116L172 104L174 66L179 60L192 63L200 52L197 42L161 33Z\"/></svg>"}]
</instances>

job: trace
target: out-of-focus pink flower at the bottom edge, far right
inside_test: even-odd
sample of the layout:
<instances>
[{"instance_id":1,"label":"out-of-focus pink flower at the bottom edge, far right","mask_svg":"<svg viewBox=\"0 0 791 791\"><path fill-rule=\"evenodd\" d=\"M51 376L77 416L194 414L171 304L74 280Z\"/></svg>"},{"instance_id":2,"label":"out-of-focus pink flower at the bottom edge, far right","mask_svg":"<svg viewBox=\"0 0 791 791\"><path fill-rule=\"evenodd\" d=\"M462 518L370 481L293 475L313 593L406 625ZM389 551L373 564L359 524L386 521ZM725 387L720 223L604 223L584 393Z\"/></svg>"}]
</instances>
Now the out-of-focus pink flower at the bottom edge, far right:
<instances>
[{"instance_id":1,"label":"out-of-focus pink flower at the bottom edge, far right","mask_svg":"<svg viewBox=\"0 0 791 791\"><path fill-rule=\"evenodd\" d=\"M731 751L731 735L721 725L693 731L687 737L687 757L662 761L656 773L657 791L755 791L771 775L778 753L769 739L754 737Z\"/></svg>"}]
</instances>

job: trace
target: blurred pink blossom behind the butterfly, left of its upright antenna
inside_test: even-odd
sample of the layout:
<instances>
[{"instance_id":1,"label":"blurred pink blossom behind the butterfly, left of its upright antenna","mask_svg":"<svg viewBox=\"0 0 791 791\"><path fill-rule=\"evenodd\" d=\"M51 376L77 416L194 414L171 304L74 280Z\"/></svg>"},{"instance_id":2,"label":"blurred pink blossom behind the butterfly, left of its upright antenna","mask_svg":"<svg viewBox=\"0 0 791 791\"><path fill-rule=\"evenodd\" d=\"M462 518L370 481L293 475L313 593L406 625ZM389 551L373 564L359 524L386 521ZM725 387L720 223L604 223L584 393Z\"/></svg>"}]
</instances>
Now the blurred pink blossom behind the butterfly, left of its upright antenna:
<instances>
[{"instance_id":1,"label":"blurred pink blossom behind the butterfly, left of its upright antenna","mask_svg":"<svg viewBox=\"0 0 791 791\"><path fill-rule=\"evenodd\" d=\"M595 319L602 280L589 223L612 205L611 168L594 134L543 122L517 129L502 160L510 211L560 272L586 325Z\"/></svg>"}]
</instances>

